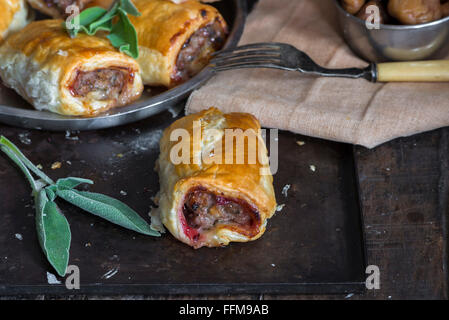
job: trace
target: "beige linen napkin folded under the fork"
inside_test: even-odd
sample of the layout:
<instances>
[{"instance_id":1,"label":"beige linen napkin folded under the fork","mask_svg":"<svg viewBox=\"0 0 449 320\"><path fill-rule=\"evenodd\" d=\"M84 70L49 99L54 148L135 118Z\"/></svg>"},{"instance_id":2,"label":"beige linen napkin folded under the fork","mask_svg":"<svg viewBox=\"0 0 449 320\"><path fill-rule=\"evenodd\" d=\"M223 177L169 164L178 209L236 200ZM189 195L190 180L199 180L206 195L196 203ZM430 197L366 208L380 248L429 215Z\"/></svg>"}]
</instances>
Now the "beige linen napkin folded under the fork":
<instances>
[{"instance_id":1,"label":"beige linen napkin folded under the fork","mask_svg":"<svg viewBox=\"0 0 449 320\"><path fill-rule=\"evenodd\" d=\"M340 37L333 0L260 0L240 44L286 42L327 67L363 67ZM373 84L271 69L226 71L195 91L186 113L216 106L263 126L360 144L449 125L449 83Z\"/></svg>"}]
</instances>

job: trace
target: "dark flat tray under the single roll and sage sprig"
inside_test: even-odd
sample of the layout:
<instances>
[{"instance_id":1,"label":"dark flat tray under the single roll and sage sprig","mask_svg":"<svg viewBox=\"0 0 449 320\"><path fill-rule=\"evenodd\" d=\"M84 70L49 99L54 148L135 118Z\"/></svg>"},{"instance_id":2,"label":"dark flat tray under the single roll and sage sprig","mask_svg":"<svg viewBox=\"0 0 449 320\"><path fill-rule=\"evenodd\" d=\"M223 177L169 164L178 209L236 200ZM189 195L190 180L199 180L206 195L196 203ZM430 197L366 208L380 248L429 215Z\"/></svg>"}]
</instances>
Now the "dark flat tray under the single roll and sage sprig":
<instances>
[{"instance_id":1,"label":"dark flat tray under the single roll and sage sprig","mask_svg":"<svg viewBox=\"0 0 449 320\"><path fill-rule=\"evenodd\" d=\"M49 133L7 126L9 137L53 178L95 181L89 190L117 197L143 217L158 191L153 171L170 113L95 132ZM70 264L81 289L49 285L54 273L37 242L30 190L0 157L0 293L238 294L343 293L363 290L364 252L352 147L279 133L278 203L285 208L258 241L193 250L166 234L151 238L116 227L60 202L72 229ZM60 161L60 169L50 169ZM316 167L313 172L310 166ZM281 194L286 184L288 196ZM121 192L124 191L124 192ZM126 195L125 195L126 193ZM15 237L19 233L23 240ZM118 272L109 279L110 270ZM60 279L63 281L63 279Z\"/></svg>"}]
</instances>

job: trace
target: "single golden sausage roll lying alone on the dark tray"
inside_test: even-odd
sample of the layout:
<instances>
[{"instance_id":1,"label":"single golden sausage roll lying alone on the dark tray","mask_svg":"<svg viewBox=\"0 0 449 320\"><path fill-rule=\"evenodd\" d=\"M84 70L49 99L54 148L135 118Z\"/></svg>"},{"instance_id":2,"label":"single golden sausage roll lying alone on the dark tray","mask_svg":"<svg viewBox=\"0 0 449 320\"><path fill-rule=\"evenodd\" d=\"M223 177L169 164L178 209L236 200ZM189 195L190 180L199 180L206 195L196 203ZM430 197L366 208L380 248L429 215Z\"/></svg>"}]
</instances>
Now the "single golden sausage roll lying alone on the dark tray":
<instances>
[{"instance_id":1,"label":"single golden sausage roll lying alone on the dark tray","mask_svg":"<svg viewBox=\"0 0 449 320\"><path fill-rule=\"evenodd\" d=\"M252 132L253 143L248 138L240 144L244 150L237 147L237 141L226 147L226 129ZM174 158L180 145L188 153L186 161ZM173 236L194 248L247 242L265 232L276 199L256 118L245 113L223 114L215 108L186 116L164 131L160 152L156 170L161 189L152 221L162 222ZM238 152L247 160L238 162ZM250 152L258 153L259 160L250 161Z\"/></svg>"}]
</instances>

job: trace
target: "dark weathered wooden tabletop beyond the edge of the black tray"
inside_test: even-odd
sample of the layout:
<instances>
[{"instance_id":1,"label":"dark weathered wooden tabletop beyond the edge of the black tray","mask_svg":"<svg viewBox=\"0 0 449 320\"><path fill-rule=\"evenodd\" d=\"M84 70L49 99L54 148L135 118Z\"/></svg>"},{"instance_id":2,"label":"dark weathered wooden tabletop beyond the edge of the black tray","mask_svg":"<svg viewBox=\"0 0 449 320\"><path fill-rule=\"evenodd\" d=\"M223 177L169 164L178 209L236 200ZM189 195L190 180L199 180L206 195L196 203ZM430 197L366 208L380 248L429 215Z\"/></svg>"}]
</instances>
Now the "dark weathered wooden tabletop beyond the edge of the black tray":
<instances>
[{"instance_id":1,"label":"dark weathered wooden tabletop beyond the edge of the black tray","mask_svg":"<svg viewBox=\"0 0 449 320\"><path fill-rule=\"evenodd\" d=\"M367 291L360 295L336 296L255 294L57 297L40 295L34 298L447 299L448 137L449 128L445 128L397 139L373 150L354 148L366 236L367 262L378 265L380 268L380 290ZM301 136L296 138L309 139ZM19 176L20 173L17 172L17 175ZM24 187L25 183L20 186L20 190Z\"/></svg>"}]
</instances>

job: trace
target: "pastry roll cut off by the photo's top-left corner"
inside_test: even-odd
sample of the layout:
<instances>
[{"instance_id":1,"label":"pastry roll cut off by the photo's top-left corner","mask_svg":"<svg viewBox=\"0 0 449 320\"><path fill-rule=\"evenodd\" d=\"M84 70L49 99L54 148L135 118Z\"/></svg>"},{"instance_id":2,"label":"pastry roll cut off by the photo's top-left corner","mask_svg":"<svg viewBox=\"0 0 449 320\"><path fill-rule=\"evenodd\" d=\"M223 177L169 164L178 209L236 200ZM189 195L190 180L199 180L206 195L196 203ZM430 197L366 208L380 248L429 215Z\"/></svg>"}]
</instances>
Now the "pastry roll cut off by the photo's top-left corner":
<instances>
[{"instance_id":1,"label":"pastry roll cut off by the photo's top-left corner","mask_svg":"<svg viewBox=\"0 0 449 320\"><path fill-rule=\"evenodd\" d=\"M0 0L0 43L29 22L29 12L25 0Z\"/></svg>"}]
</instances>

